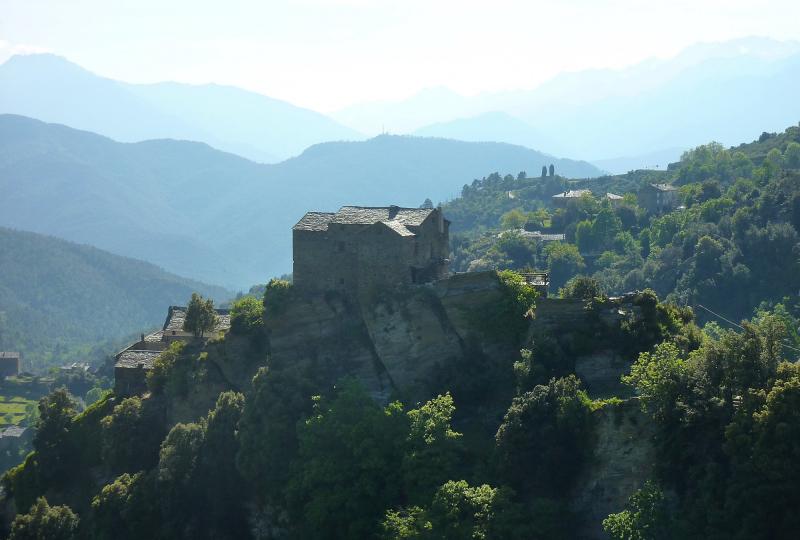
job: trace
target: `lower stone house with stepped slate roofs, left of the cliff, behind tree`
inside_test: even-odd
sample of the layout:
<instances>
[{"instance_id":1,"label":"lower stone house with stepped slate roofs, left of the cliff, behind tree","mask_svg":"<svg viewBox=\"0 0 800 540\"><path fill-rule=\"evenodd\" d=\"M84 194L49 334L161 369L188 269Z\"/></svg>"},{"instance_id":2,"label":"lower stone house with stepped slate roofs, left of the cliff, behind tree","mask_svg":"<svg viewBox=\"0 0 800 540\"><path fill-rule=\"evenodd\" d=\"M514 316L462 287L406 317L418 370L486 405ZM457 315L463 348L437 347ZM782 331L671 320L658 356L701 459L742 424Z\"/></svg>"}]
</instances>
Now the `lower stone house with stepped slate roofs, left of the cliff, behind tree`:
<instances>
[{"instance_id":1,"label":"lower stone house with stepped slate roofs, left of the cliff, behind tree","mask_svg":"<svg viewBox=\"0 0 800 540\"><path fill-rule=\"evenodd\" d=\"M218 309L217 326L208 337L217 336L231 327L230 311ZM118 396L141 394L147 390L147 372L169 345L175 341L191 341L194 334L183 329L186 308L170 306L161 330L140 336L139 341L121 350L114 357L114 393Z\"/></svg>"}]
</instances>

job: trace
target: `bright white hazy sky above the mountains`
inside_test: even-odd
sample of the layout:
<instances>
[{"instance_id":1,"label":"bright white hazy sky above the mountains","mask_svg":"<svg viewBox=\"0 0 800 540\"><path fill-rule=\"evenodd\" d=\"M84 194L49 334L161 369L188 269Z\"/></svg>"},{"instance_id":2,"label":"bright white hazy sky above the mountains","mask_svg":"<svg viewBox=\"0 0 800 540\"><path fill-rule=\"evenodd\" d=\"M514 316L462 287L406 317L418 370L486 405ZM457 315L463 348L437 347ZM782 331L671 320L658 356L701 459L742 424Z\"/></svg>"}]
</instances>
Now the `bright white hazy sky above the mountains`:
<instances>
[{"instance_id":1,"label":"bright white hazy sky above the mountains","mask_svg":"<svg viewBox=\"0 0 800 540\"><path fill-rule=\"evenodd\" d=\"M798 0L0 0L0 61L217 82L331 111L421 88L530 88L700 41L800 39Z\"/></svg>"}]
</instances>

